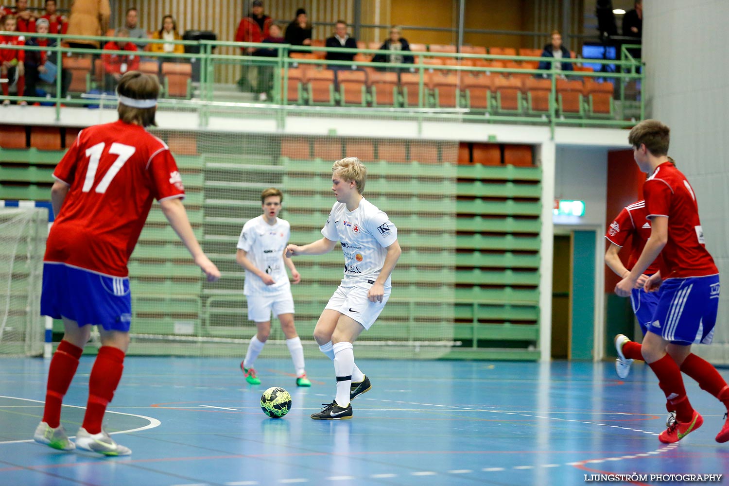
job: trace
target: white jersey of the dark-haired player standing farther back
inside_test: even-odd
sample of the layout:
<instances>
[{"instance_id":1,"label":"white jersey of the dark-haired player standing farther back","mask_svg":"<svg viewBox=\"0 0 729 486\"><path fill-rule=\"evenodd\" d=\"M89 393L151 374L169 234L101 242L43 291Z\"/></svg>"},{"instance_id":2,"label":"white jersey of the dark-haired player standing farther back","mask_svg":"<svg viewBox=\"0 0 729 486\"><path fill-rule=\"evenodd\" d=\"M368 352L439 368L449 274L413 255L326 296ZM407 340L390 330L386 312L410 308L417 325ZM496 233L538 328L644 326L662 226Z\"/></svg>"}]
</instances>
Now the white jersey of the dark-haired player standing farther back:
<instances>
[{"instance_id":1,"label":"white jersey of the dark-haired player standing farther back","mask_svg":"<svg viewBox=\"0 0 729 486\"><path fill-rule=\"evenodd\" d=\"M258 275L246 270L243 294L278 294L291 290L289 275L284 264L284 248L289 242L290 235L291 225L281 218L276 218L276 224L270 225L261 215L249 219L243 225L237 248L246 251L248 259L276 281L273 285L266 285Z\"/></svg>"}]
</instances>

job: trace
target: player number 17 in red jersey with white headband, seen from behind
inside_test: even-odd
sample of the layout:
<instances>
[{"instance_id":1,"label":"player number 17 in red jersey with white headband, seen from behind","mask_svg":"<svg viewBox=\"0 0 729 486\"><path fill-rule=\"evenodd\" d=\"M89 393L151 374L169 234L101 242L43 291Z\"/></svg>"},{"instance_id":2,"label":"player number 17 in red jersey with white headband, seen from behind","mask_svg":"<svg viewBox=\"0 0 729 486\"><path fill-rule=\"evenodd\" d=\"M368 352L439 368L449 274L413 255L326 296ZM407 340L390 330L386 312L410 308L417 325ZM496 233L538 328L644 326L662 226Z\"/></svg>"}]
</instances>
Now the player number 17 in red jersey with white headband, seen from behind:
<instances>
[{"instance_id":1,"label":"player number 17 in red jersey with white headband, seen from behind","mask_svg":"<svg viewBox=\"0 0 729 486\"><path fill-rule=\"evenodd\" d=\"M131 321L127 262L152 200L159 201L208 281L220 278L192 233L168 146L145 130L155 125L156 77L130 71L117 90L119 121L82 130L53 172L56 219L44 256L41 313L63 318L65 334L50 363L43 420L34 436L55 449L78 446L103 455L131 453L101 428L101 420L122 377ZM61 402L92 325L100 326L101 348L74 444L60 423Z\"/></svg>"}]
</instances>

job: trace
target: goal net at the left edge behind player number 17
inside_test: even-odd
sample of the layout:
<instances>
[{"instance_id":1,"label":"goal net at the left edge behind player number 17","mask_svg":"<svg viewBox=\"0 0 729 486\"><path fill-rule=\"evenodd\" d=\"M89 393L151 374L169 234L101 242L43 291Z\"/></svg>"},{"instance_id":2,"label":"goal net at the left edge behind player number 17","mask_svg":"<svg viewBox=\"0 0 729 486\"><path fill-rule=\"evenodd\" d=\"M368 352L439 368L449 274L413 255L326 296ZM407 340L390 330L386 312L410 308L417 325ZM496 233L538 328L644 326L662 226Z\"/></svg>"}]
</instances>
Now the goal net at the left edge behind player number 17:
<instances>
[{"instance_id":1,"label":"goal net at the left edge behind player number 17","mask_svg":"<svg viewBox=\"0 0 729 486\"><path fill-rule=\"evenodd\" d=\"M0 356L39 356L46 208L0 208Z\"/></svg>"}]
</instances>

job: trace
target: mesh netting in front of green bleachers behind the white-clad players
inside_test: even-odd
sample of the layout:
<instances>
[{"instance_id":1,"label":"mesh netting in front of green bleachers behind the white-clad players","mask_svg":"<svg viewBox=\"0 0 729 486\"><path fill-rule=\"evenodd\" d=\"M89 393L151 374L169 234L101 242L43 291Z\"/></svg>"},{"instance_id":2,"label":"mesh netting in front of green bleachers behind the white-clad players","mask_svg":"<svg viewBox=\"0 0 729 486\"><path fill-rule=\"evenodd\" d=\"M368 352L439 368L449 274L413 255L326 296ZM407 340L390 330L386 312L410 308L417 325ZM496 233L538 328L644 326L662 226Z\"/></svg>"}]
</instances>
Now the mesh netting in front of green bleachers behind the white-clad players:
<instances>
[{"instance_id":1,"label":"mesh netting in front of green bleachers behind the white-clad players","mask_svg":"<svg viewBox=\"0 0 729 486\"><path fill-rule=\"evenodd\" d=\"M235 262L243 224L261 214L260 193L284 192L279 217L291 243L321 238L335 199L332 163L359 157L364 196L398 227L402 256L391 299L359 337L357 356L435 358L453 341L457 144L337 136L308 137L155 130L175 154L195 234L222 278L206 283L182 243L153 208L130 261L132 353L242 356L255 325L247 320L244 270ZM302 282L292 286L305 353L319 356L312 332L340 282L343 255L295 257ZM288 356L274 319L268 356Z\"/></svg>"}]
</instances>

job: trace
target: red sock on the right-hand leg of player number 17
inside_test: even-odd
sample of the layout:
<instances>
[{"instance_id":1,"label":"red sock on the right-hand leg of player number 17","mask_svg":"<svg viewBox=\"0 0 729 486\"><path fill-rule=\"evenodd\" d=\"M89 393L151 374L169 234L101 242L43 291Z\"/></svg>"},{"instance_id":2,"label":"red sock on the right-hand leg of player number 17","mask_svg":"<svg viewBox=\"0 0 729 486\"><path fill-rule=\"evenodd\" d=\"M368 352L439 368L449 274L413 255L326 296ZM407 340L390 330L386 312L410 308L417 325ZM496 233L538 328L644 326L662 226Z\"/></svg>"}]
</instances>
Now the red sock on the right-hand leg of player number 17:
<instances>
[{"instance_id":1,"label":"red sock on the right-hand leg of player number 17","mask_svg":"<svg viewBox=\"0 0 729 486\"><path fill-rule=\"evenodd\" d=\"M89 401L86 405L83 428L89 434L101 432L106 405L114 398L114 391L122 379L124 351L112 346L101 346L89 378Z\"/></svg>"}]
</instances>

